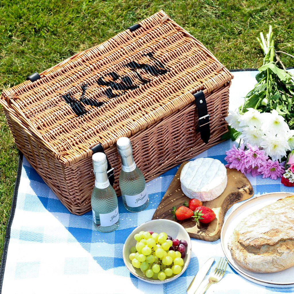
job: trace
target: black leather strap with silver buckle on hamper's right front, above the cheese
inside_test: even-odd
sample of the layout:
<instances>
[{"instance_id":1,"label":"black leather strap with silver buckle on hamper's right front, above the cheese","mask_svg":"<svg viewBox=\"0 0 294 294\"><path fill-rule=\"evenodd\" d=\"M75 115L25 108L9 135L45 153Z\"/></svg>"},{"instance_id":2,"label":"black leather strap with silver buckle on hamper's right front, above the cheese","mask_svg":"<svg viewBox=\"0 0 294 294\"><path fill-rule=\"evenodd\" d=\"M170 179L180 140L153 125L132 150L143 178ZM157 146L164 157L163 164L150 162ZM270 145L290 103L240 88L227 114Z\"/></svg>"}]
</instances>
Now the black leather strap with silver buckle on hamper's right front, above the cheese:
<instances>
[{"instance_id":1,"label":"black leather strap with silver buckle on hamper's right front, above the cheese","mask_svg":"<svg viewBox=\"0 0 294 294\"><path fill-rule=\"evenodd\" d=\"M207 111L207 104L204 93L198 91L193 94L198 111L198 127L197 131L200 132L200 137L204 143L208 143L210 137L209 114Z\"/></svg>"}]
</instances>

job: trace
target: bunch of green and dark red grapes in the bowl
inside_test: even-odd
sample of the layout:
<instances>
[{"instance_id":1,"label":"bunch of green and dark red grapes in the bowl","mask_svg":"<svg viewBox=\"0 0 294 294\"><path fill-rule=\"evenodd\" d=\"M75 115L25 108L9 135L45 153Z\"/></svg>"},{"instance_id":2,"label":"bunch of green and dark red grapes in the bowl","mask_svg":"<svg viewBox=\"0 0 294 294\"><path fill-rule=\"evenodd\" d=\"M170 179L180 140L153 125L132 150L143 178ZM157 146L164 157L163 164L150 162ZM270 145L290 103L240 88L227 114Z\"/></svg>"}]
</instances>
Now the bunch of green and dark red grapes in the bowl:
<instances>
[{"instance_id":1,"label":"bunch of green and dark red grapes in the bowl","mask_svg":"<svg viewBox=\"0 0 294 294\"><path fill-rule=\"evenodd\" d=\"M133 267L155 280L164 280L182 271L186 240L173 239L164 232L141 231L134 235L136 246L130 249Z\"/></svg>"}]
</instances>

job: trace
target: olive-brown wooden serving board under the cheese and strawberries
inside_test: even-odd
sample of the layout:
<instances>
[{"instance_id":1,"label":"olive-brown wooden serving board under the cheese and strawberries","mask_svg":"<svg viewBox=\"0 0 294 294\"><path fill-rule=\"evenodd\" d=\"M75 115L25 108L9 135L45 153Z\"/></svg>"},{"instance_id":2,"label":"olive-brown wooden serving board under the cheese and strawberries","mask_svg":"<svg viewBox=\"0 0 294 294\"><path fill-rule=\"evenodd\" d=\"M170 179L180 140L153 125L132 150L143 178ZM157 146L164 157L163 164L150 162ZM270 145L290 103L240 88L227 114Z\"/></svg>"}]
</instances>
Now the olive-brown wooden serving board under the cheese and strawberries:
<instances>
[{"instance_id":1,"label":"olive-brown wooden serving board under the cheese and strawberries","mask_svg":"<svg viewBox=\"0 0 294 294\"><path fill-rule=\"evenodd\" d=\"M188 198L181 189L180 174L183 166L188 161L181 164L176 172L171 184L169 185L166 193L163 195L152 219L164 218L174 220L172 214L173 206L177 208L186 201ZM216 199L203 202L204 206L211 208L216 214L216 218L208 223L197 225L193 218L187 220L178 220L178 223L183 225L191 238L196 238L205 241L216 241L220 238L220 231L224 222L225 213L235 203L249 199L253 196L253 187L249 180L243 173L236 169L227 168L228 184L225 191Z\"/></svg>"}]
</instances>

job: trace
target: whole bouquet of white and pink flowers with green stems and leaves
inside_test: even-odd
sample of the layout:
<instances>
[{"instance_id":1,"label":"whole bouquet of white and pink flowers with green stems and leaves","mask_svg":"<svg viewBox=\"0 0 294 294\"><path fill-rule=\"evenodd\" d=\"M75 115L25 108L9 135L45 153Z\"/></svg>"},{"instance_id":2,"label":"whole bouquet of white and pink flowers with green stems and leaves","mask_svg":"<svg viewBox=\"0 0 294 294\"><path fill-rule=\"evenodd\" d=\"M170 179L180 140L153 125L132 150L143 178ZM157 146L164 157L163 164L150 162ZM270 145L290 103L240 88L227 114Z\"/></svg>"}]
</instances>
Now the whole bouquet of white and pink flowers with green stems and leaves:
<instances>
[{"instance_id":1,"label":"whole bouquet of white and pink flowers with green stems and leaves","mask_svg":"<svg viewBox=\"0 0 294 294\"><path fill-rule=\"evenodd\" d=\"M265 54L256 75L258 83L245 96L243 105L229 111L226 118L229 131L222 138L243 140L238 148L226 151L226 166L263 178L282 177L284 185L294 186L293 76L276 55L284 52L275 51L271 26L267 41L260 33L258 43Z\"/></svg>"}]
</instances>

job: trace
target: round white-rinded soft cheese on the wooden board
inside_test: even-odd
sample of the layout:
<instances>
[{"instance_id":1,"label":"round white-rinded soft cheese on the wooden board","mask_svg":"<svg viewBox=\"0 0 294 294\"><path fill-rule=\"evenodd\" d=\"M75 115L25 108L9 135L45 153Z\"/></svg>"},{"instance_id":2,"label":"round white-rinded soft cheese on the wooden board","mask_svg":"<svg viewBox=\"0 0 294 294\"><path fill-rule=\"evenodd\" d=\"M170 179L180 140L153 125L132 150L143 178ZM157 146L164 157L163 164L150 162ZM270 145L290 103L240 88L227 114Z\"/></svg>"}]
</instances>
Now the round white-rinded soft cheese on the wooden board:
<instances>
[{"instance_id":1,"label":"round white-rinded soft cheese on the wooden board","mask_svg":"<svg viewBox=\"0 0 294 294\"><path fill-rule=\"evenodd\" d=\"M227 169L218 159L197 158L183 166L181 188L189 198L211 201L225 190Z\"/></svg>"}]
</instances>

